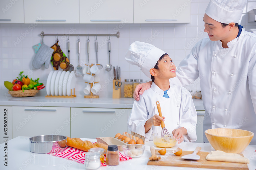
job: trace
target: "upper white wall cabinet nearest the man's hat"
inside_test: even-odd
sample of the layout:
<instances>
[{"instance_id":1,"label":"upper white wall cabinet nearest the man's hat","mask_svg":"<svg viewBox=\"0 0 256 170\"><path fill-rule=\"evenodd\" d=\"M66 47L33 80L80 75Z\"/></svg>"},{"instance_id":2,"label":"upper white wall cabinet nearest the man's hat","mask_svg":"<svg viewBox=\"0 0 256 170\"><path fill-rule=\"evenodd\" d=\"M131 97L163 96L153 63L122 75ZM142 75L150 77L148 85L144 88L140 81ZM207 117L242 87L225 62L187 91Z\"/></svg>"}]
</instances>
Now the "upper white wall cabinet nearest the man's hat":
<instances>
[{"instance_id":1,"label":"upper white wall cabinet nearest the man's hat","mask_svg":"<svg viewBox=\"0 0 256 170\"><path fill-rule=\"evenodd\" d=\"M189 23L190 1L134 0L134 23Z\"/></svg>"}]
</instances>

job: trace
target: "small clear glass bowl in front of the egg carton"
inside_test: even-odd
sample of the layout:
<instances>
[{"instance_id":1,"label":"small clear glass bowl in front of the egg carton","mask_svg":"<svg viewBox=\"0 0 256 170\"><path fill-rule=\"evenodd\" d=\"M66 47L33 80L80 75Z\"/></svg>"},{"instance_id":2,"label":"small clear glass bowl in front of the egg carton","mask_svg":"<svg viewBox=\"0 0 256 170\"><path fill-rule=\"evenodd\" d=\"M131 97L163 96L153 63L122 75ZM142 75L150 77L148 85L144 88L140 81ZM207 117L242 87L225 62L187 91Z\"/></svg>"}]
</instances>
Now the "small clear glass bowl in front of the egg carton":
<instances>
[{"instance_id":1,"label":"small clear glass bowl in front of the egg carton","mask_svg":"<svg viewBox=\"0 0 256 170\"><path fill-rule=\"evenodd\" d=\"M140 144L123 145L124 154L132 158L141 157L141 155L144 153L144 150L145 146Z\"/></svg>"}]
</instances>

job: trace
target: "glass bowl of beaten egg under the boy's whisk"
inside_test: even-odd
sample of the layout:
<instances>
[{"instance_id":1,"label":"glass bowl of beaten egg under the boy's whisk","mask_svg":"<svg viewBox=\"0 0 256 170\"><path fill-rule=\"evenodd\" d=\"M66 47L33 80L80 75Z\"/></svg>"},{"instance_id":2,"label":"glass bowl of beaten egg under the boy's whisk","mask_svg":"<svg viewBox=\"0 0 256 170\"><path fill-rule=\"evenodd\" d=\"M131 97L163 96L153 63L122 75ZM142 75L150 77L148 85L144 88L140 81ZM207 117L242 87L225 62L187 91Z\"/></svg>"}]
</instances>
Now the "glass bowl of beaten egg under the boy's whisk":
<instances>
[{"instance_id":1,"label":"glass bowl of beaten egg under the boy's whisk","mask_svg":"<svg viewBox=\"0 0 256 170\"><path fill-rule=\"evenodd\" d=\"M167 137L162 138L162 133L154 133L153 134L153 142L157 147L161 148L171 148L176 145L176 140L173 138L173 134L169 133L171 138L167 139Z\"/></svg>"}]
</instances>

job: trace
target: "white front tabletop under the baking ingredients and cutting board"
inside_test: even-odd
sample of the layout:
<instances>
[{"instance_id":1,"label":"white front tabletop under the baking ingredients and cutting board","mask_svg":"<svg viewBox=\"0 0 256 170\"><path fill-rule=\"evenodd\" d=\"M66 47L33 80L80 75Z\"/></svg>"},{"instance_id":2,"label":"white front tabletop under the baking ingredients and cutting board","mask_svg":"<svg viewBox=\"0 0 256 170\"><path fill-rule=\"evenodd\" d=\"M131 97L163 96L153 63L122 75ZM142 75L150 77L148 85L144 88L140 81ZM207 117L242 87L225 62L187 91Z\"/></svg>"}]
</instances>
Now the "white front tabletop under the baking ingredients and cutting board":
<instances>
[{"instance_id":1,"label":"white front tabletop under the baking ingredients and cutting board","mask_svg":"<svg viewBox=\"0 0 256 170\"><path fill-rule=\"evenodd\" d=\"M85 169L83 164L66 160L60 157L56 157L48 154L37 154L29 151L29 137L17 137L8 141L8 167L3 164L3 155L4 155L4 144L0 145L0 157L2 158L0 169L10 169L10 170L74 170L74 169ZM96 139L82 139L95 142ZM131 170L131 169L195 169L195 168L186 168L186 167L172 167L172 166L153 166L147 165L148 158L151 156L150 146L155 146L153 141L145 143L145 152L139 158L133 158L129 161L122 161L118 166L103 166L99 169L122 169L122 170ZM176 144L172 149L177 147L182 148L183 150L193 151L197 146L200 146L201 151L214 151L209 143L181 143ZM249 170L254 170L256 168L256 145L249 145L242 153L244 157L247 157L250 160L248 164ZM123 152L121 152L123 153ZM197 168L196 168L197 169ZM201 170L207 170L205 168L198 168ZM208 169L209 170L209 169Z\"/></svg>"}]
</instances>

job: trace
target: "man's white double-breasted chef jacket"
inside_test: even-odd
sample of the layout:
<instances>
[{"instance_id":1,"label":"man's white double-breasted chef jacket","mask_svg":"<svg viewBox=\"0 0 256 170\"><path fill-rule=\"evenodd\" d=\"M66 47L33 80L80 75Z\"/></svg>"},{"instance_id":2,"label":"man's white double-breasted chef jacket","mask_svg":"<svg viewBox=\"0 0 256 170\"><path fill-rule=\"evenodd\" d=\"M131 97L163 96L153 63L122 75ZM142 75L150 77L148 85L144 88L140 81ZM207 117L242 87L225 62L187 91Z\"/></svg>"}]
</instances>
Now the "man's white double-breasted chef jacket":
<instances>
[{"instance_id":1,"label":"man's white double-breasted chef jacket","mask_svg":"<svg viewBox=\"0 0 256 170\"><path fill-rule=\"evenodd\" d=\"M221 41L200 40L176 69L171 83L186 86L200 77L205 108L204 131L236 128L256 135L256 35L242 29L223 48ZM256 145L256 137L250 144Z\"/></svg>"}]
</instances>

